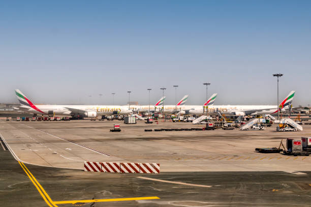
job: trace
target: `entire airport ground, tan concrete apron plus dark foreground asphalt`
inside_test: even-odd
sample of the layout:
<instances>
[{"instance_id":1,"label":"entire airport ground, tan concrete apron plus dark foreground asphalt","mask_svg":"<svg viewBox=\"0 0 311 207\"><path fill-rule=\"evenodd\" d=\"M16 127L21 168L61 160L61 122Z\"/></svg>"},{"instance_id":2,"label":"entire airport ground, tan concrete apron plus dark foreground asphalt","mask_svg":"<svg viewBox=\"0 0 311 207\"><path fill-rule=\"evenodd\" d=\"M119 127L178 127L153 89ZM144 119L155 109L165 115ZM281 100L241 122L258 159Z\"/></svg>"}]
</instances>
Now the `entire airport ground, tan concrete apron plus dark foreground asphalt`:
<instances>
[{"instance_id":1,"label":"entire airport ground, tan concrete apron plus dark foreground asphalt","mask_svg":"<svg viewBox=\"0 0 311 207\"><path fill-rule=\"evenodd\" d=\"M109 132L116 122L121 123L0 121L0 204L311 206L311 156L254 152L256 147L278 147L282 138L311 136L309 125L297 132L277 132L274 126L264 131L145 132L202 125L141 121L121 123L121 132ZM161 173L85 172L84 160L158 162Z\"/></svg>"}]
</instances>

